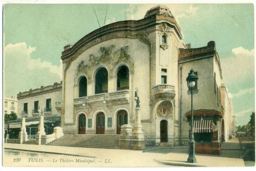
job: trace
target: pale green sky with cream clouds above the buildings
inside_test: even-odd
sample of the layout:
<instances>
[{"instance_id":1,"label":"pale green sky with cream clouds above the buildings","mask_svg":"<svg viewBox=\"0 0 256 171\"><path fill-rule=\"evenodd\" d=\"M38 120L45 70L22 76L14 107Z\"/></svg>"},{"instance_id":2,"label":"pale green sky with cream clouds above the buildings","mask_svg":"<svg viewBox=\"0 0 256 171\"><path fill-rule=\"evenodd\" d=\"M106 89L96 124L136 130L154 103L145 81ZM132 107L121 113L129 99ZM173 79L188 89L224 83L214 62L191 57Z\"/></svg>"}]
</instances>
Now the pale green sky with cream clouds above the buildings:
<instances>
[{"instance_id":1,"label":"pale green sky with cream clouds above the buildings","mask_svg":"<svg viewBox=\"0 0 256 171\"><path fill-rule=\"evenodd\" d=\"M100 26L138 20L157 4L7 4L4 6L4 96L62 80L61 52ZM185 44L213 40L237 125L255 111L253 4L167 4Z\"/></svg>"}]
</instances>

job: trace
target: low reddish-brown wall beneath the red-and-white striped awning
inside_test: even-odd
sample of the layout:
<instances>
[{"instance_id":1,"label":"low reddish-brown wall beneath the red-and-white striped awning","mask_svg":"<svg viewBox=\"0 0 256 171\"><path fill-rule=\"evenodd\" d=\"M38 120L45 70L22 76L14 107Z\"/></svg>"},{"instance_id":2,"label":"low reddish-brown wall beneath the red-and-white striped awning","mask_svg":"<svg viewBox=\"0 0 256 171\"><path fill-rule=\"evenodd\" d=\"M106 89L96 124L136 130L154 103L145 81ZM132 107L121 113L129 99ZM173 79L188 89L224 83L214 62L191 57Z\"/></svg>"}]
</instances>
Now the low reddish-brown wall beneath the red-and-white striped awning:
<instances>
[{"instance_id":1,"label":"low reddish-brown wall beneath the red-and-white striped awning","mask_svg":"<svg viewBox=\"0 0 256 171\"><path fill-rule=\"evenodd\" d=\"M196 143L195 153L221 155L221 143Z\"/></svg>"}]
</instances>

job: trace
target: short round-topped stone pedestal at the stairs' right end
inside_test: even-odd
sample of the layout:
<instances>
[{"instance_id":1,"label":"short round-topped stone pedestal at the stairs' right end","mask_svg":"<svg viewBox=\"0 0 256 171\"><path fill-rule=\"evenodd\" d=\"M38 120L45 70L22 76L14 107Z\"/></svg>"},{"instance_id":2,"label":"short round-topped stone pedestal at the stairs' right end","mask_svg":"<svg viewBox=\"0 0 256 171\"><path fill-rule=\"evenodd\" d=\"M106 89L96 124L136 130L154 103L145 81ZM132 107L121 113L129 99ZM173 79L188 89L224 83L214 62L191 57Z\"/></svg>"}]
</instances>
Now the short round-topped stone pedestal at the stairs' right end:
<instances>
[{"instance_id":1,"label":"short round-topped stone pedestal at the stairs' right end","mask_svg":"<svg viewBox=\"0 0 256 171\"><path fill-rule=\"evenodd\" d=\"M121 126L121 133L119 135L119 148L131 149L132 126L124 124Z\"/></svg>"}]
</instances>

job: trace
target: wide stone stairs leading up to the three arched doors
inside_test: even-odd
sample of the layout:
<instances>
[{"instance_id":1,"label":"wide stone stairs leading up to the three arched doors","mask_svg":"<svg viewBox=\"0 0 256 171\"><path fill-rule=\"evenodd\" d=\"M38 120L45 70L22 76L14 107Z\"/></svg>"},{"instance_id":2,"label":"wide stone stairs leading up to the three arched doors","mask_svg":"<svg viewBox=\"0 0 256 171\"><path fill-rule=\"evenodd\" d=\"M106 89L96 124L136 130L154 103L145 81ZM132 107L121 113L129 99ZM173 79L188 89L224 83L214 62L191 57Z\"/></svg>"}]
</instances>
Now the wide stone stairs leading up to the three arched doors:
<instances>
[{"instance_id":1,"label":"wide stone stairs leading up to the three arched doors","mask_svg":"<svg viewBox=\"0 0 256 171\"><path fill-rule=\"evenodd\" d=\"M65 134L46 145L117 149L118 139L118 134Z\"/></svg>"}]
</instances>

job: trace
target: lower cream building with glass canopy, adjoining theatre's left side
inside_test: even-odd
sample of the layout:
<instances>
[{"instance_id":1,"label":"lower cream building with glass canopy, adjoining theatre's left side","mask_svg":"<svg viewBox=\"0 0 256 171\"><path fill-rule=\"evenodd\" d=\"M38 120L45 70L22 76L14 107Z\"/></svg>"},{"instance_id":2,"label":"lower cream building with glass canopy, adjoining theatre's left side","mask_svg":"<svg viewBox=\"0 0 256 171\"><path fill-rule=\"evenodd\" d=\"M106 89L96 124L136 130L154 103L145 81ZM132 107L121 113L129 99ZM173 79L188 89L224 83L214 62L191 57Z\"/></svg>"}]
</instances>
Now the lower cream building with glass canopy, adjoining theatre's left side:
<instances>
[{"instance_id":1,"label":"lower cream building with glass canopy, adjoining theatre's left side","mask_svg":"<svg viewBox=\"0 0 256 171\"><path fill-rule=\"evenodd\" d=\"M22 115L26 115L26 131L29 139L36 137L41 113L45 116L44 127L46 134L52 134L53 128L60 125L60 114L55 108L55 102L62 100L62 82L50 86L19 92L17 94L17 120L5 123L9 129L18 133L21 128ZM13 138L17 138L13 136Z\"/></svg>"}]
</instances>

